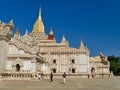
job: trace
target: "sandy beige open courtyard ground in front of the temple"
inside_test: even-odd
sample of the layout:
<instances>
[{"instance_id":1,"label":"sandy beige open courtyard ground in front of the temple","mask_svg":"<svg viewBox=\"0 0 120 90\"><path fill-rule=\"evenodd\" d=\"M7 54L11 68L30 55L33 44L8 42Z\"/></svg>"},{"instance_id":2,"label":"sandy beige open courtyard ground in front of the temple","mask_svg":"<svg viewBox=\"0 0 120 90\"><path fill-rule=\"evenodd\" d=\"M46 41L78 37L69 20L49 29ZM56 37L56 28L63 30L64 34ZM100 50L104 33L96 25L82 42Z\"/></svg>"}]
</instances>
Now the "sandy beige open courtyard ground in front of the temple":
<instances>
[{"instance_id":1,"label":"sandy beige open courtyard ground in front of the temple","mask_svg":"<svg viewBox=\"0 0 120 90\"><path fill-rule=\"evenodd\" d=\"M120 77L49 80L0 80L0 90L120 90Z\"/></svg>"}]
</instances>

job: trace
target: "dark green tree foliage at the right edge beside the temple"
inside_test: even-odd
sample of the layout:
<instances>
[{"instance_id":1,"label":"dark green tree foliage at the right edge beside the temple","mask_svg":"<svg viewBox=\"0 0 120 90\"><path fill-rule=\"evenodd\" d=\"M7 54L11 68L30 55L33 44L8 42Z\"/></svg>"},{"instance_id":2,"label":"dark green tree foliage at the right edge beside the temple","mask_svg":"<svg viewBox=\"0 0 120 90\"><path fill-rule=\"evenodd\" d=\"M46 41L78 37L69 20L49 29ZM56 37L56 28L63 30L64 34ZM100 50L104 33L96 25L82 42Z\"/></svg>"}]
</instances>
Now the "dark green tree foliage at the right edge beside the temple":
<instances>
[{"instance_id":1,"label":"dark green tree foliage at the right edge beside the temple","mask_svg":"<svg viewBox=\"0 0 120 90\"><path fill-rule=\"evenodd\" d=\"M115 76L120 76L120 57L108 56L110 61L110 71L113 72Z\"/></svg>"}]
</instances>

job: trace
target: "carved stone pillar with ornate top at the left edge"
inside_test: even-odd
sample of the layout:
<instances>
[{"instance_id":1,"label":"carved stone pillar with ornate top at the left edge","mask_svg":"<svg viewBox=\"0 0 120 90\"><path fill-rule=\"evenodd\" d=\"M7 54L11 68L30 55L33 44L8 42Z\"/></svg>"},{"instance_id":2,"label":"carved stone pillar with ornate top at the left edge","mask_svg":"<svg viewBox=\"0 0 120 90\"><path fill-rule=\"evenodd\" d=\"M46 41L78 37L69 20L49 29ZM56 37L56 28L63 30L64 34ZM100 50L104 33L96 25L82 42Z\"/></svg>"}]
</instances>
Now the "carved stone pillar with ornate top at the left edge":
<instances>
[{"instance_id":1,"label":"carved stone pillar with ornate top at the left edge","mask_svg":"<svg viewBox=\"0 0 120 90\"><path fill-rule=\"evenodd\" d=\"M8 41L11 39L13 21L11 20L8 24L0 22L0 72L5 70L7 62L7 51L8 51Z\"/></svg>"}]
</instances>

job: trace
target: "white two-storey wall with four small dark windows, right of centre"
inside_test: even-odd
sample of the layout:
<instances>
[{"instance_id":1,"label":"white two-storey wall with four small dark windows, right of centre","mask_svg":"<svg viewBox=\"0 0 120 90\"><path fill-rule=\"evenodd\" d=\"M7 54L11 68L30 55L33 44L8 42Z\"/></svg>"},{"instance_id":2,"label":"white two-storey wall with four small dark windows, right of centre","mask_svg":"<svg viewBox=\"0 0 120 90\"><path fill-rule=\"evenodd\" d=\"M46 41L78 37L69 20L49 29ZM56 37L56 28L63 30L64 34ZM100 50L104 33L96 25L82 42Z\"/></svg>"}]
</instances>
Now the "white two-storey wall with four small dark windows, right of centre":
<instances>
[{"instance_id":1,"label":"white two-storey wall with four small dark windows, right of centre","mask_svg":"<svg viewBox=\"0 0 120 90\"><path fill-rule=\"evenodd\" d=\"M53 63L53 60L56 60L56 64ZM75 60L75 63L72 63L71 60ZM52 55L51 64L53 68L56 69L56 73L69 72L70 68L75 69L75 73L88 72L89 67L89 55L87 54L62 54L62 55ZM72 67L71 67L72 65Z\"/></svg>"}]
</instances>

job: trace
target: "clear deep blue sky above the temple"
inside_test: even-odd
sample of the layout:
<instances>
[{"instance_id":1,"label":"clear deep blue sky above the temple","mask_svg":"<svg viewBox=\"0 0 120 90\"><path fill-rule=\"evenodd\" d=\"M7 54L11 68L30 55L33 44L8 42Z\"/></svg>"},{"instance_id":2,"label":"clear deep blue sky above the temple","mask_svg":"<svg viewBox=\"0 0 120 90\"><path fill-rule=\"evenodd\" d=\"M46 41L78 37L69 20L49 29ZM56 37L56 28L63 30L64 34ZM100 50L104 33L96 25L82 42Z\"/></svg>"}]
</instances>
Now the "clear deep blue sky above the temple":
<instances>
[{"instance_id":1,"label":"clear deep blue sky above the temple","mask_svg":"<svg viewBox=\"0 0 120 90\"><path fill-rule=\"evenodd\" d=\"M23 35L32 31L39 7L46 33L52 27L57 42L64 35L78 48L82 37L91 56L120 56L120 0L0 0L0 20L13 19L14 32Z\"/></svg>"}]
</instances>

